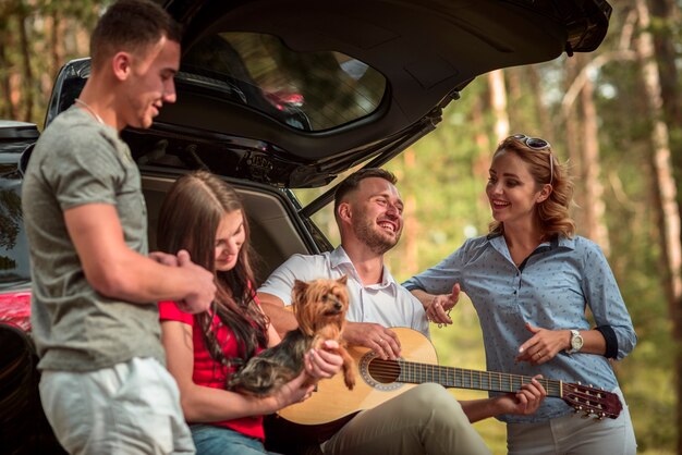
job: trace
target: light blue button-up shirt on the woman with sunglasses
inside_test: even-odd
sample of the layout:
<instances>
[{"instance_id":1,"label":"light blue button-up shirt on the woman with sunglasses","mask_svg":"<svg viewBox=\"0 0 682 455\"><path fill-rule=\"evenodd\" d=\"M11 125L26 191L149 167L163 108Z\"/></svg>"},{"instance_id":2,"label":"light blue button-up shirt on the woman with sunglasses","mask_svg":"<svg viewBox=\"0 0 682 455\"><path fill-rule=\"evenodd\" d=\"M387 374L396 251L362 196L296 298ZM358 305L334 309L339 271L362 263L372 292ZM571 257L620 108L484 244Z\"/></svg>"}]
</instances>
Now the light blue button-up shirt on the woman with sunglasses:
<instances>
[{"instance_id":1,"label":"light blue button-up shirt on the woman with sunglasses","mask_svg":"<svg viewBox=\"0 0 682 455\"><path fill-rule=\"evenodd\" d=\"M467 239L439 265L407 280L410 290L449 294L460 283L471 298L483 329L489 371L543 374L546 379L581 382L612 391L618 381L609 360L600 355L559 353L552 360L533 366L514 358L532 334L526 322L549 330L589 330L585 309L596 325L610 325L618 339L618 359L635 346L630 315L601 249L576 236L560 237L537 247L517 268L503 236ZM538 422L572 411L563 401L547 398L531 416L500 416L507 422Z\"/></svg>"}]
</instances>

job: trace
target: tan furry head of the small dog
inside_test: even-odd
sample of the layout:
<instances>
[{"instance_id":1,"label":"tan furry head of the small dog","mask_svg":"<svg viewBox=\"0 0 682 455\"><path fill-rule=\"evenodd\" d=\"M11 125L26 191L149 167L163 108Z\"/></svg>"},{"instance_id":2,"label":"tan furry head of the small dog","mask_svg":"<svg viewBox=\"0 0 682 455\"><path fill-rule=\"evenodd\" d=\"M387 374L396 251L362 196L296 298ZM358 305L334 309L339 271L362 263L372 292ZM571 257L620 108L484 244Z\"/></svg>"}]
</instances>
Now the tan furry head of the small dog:
<instances>
[{"instance_id":1,"label":"tan furry head of the small dog","mask_svg":"<svg viewBox=\"0 0 682 455\"><path fill-rule=\"evenodd\" d=\"M341 333L349 309L346 282L346 275L338 280L295 281L293 309L304 334L310 336L322 328Z\"/></svg>"}]
</instances>

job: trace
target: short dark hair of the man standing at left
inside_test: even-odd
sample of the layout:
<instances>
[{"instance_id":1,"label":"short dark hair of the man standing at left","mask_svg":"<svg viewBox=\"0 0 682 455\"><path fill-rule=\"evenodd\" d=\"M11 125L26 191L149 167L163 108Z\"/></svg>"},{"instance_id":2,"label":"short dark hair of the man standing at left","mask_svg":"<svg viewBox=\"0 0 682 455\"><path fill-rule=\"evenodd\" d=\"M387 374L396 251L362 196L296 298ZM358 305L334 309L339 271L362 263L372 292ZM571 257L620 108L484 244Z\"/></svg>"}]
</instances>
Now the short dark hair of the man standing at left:
<instances>
[{"instance_id":1,"label":"short dark hair of the man standing at left","mask_svg":"<svg viewBox=\"0 0 682 455\"><path fill-rule=\"evenodd\" d=\"M99 19L90 36L93 67L117 52L144 52L162 37L180 42L182 28L150 0L119 0Z\"/></svg>"}]
</instances>

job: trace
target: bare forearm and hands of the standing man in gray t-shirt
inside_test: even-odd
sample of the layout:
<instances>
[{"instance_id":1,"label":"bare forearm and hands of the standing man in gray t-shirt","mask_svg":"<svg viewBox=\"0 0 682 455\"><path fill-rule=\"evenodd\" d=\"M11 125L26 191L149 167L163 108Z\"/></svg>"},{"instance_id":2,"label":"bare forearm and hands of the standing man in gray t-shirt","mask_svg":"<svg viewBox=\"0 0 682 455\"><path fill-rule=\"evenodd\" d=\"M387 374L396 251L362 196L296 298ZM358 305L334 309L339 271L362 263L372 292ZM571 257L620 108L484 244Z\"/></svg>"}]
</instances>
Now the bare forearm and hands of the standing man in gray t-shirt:
<instances>
[{"instance_id":1,"label":"bare forearm and hands of the standing man in gray t-shirt","mask_svg":"<svg viewBox=\"0 0 682 455\"><path fill-rule=\"evenodd\" d=\"M77 206L64 211L64 220L85 278L98 293L137 304L183 300L188 312L205 310L214 299L212 273L186 251L178 267L168 267L129 248L114 206Z\"/></svg>"}]
</instances>

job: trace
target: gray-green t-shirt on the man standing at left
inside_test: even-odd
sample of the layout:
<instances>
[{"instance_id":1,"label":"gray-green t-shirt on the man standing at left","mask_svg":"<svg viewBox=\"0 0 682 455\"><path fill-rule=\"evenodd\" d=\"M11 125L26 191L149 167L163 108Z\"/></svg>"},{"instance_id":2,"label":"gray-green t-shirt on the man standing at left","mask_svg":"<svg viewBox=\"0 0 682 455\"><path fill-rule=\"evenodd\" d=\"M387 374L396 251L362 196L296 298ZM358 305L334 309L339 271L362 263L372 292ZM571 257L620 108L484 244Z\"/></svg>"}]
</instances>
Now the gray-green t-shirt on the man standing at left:
<instances>
[{"instance_id":1,"label":"gray-green t-shirt on the man standing at left","mask_svg":"<svg viewBox=\"0 0 682 455\"><path fill-rule=\"evenodd\" d=\"M73 107L40 136L23 184L38 367L90 371L133 357L163 362L155 303L106 297L85 279L63 212L86 204L115 206L125 244L147 255L147 210L130 149L114 128Z\"/></svg>"}]
</instances>

